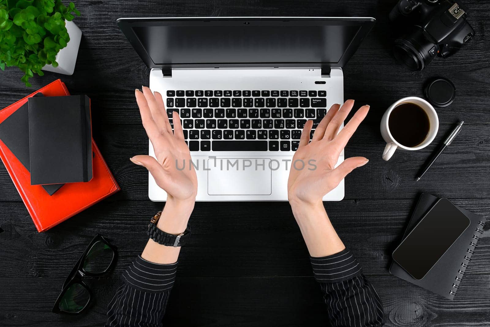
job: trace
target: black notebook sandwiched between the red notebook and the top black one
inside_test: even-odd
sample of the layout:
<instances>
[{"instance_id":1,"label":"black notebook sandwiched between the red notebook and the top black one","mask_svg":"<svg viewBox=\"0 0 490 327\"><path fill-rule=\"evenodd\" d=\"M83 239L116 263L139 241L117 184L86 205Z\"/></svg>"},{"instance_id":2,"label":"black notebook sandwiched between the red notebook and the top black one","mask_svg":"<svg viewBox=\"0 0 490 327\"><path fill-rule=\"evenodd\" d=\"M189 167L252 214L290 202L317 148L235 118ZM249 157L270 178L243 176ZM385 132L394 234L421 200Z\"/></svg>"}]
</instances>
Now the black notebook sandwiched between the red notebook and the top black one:
<instances>
[{"instance_id":1,"label":"black notebook sandwiched between the red notebook and the top black one","mask_svg":"<svg viewBox=\"0 0 490 327\"><path fill-rule=\"evenodd\" d=\"M34 97L42 97L42 93ZM29 105L26 102L0 124L0 139L30 172L29 158ZM42 185L49 195L59 190L63 184Z\"/></svg>"}]
</instances>

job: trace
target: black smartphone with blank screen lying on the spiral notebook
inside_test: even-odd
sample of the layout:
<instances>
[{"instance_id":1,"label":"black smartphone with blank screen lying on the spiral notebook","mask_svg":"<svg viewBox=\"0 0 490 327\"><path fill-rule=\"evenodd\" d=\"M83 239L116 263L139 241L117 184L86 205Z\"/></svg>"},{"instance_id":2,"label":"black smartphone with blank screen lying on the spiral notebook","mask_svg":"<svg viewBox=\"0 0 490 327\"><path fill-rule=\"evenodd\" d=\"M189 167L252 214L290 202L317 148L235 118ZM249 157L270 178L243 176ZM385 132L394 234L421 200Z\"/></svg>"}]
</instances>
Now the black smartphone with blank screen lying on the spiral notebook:
<instances>
[{"instance_id":1,"label":"black smartphone with blank screen lying on the spiral notebook","mask_svg":"<svg viewBox=\"0 0 490 327\"><path fill-rule=\"evenodd\" d=\"M442 198L425 214L392 257L415 279L422 279L469 226L470 220Z\"/></svg>"}]
</instances>

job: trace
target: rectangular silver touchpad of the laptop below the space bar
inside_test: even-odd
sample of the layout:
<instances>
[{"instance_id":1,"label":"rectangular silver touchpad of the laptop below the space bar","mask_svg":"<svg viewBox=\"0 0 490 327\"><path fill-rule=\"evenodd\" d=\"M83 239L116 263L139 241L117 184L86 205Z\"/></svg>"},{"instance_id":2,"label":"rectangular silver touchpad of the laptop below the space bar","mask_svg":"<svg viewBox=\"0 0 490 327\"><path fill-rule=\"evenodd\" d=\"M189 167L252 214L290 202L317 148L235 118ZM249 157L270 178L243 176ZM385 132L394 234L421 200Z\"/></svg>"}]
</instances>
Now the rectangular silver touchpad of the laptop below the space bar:
<instances>
[{"instance_id":1,"label":"rectangular silver touchpad of the laptop below the space bar","mask_svg":"<svg viewBox=\"0 0 490 327\"><path fill-rule=\"evenodd\" d=\"M208 159L209 195L270 195L269 158Z\"/></svg>"}]
</instances>

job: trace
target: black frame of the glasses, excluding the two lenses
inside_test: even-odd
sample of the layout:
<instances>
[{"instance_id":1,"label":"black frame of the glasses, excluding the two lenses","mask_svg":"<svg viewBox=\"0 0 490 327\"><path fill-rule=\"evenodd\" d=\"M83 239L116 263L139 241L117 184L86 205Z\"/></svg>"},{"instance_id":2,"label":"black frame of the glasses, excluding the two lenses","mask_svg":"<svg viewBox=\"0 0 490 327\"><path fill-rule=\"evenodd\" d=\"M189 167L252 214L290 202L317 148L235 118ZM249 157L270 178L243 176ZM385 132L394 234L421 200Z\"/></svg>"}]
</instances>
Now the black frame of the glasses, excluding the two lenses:
<instances>
[{"instance_id":1,"label":"black frame of the glasses, excluding the two lenses","mask_svg":"<svg viewBox=\"0 0 490 327\"><path fill-rule=\"evenodd\" d=\"M83 269L83 263L85 262L85 259L87 257L87 254L89 253L89 251L92 249L92 247L97 242L102 242L105 245L107 245L112 250L112 252L114 254L112 256L111 263L107 266L107 268L104 271L99 272L99 273L92 273L92 272L88 272L85 269ZM96 277L96 276L100 276L100 275L106 274L109 270L111 270L116 265L117 254L118 254L117 248L114 245L110 244L109 241L105 237L103 237L100 234L97 234L92 239L92 241L90 241L89 245L87 246L87 248L85 249L85 251L82 253L82 255L80 255L80 258L75 263L75 265L73 266L72 271L70 272L70 274L66 278L65 282L63 283L63 287L61 289L61 292L58 295L58 298L56 299L56 302L54 302L54 306L53 306L52 312L54 312L54 313L62 313L62 314L67 314L67 315L78 315L78 314L82 313L83 311L85 311L89 307L90 302L92 301L93 294L92 294L92 291L90 290L90 288L87 286L87 284L85 284L82 281L82 277L85 277L85 276L94 276L94 277ZM68 312L68 311L61 310L59 308L59 304L63 300L63 296L65 295L66 291L73 284L79 284L79 285L83 286L87 290L87 292L88 292L89 300L87 301L87 304L85 304L85 306L80 311L78 311L78 312Z\"/></svg>"}]
</instances>

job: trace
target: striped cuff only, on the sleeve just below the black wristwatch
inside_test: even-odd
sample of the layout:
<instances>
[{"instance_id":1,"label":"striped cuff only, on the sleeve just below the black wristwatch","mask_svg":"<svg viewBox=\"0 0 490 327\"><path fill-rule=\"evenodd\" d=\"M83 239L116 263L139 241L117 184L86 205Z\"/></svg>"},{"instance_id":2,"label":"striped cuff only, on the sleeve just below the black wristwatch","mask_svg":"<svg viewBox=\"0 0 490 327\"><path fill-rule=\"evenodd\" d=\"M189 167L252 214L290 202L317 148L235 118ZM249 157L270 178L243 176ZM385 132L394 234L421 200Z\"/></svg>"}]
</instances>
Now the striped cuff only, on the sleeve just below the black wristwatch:
<instances>
[{"instance_id":1,"label":"striped cuff only, on the sleeve just below the black wristwatch","mask_svg":"<svg viewBox=\"0 0 490 327\"><path fill-rule=\"evenodd\" d=\"M159 293L172 288L176 270L177 262L159 264L149 262L138 255L123 273L123 280L130 287Z\"/></svg>"}]
</instances>

